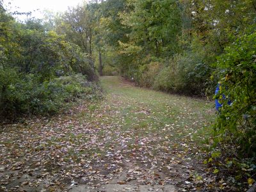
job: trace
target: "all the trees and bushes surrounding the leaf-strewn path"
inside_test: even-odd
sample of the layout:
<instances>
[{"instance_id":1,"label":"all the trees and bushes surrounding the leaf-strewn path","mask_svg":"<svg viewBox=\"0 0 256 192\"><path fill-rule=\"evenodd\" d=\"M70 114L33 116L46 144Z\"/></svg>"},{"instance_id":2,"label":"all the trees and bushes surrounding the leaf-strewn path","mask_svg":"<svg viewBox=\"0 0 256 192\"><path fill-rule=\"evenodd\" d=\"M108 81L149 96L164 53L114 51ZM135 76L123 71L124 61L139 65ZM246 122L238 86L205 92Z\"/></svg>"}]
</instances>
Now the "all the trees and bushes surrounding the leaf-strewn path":
<instances>
[{"instance_id":1,"label":"all the trees and bushes surrounding the leaf-strewn path","mask_svg":"<svg viewBox=\"0 0 256 192\"><path fill-rule=\"evenodd\" d=\"M99 97L102 75L214 97L222 107L205 129L202 161L220 180L248 188L256 173L255 20L253 0L90 1L26 22L1 3L1 118L51 115Z\"/></svg>"}]
</instances>

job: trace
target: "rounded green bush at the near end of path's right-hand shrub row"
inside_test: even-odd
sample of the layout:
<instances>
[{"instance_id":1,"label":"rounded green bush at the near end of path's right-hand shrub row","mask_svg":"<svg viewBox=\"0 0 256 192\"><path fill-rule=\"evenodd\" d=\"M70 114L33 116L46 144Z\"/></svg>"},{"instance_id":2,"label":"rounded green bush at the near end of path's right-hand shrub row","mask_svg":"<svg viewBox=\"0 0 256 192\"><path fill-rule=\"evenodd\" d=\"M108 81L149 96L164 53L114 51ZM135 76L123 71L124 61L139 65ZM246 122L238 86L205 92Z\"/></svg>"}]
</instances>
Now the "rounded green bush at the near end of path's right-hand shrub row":
<instances>
[{"instance_id":1,"label":"rounded green bush at the near end of path's right-hand shrub row","mask_svg":"<svg viewBox=\"0 0 256 192\"><path fill-rule=\"evenodd\" d=\"M184 52L175 55L156 75L153 88L165 92L205 96L211 68L205 54Z\"/></svg>"}]
</instances>

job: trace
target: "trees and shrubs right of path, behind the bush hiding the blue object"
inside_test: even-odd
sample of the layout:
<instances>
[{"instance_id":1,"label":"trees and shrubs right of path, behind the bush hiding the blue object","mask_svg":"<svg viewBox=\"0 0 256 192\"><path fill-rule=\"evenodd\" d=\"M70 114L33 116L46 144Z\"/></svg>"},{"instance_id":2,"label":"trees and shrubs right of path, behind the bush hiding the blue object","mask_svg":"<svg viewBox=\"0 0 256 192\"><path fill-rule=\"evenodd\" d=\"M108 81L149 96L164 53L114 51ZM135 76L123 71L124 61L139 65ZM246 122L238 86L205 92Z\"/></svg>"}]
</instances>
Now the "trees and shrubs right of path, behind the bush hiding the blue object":
<instances>
[{"instance_id":1,"label":"trees and shrubs right of path, behind the bush hiding the blue object","mask_svg":"<svg viewBox=\"0 0 256 192\"><path fill-rule=\"evenodd\" d=\"M140 86L207 97L214 93L218 81L210 80L212 70L218 68L212 65L216 56L255 22L252 0L234 4L219 0L109 0L101 7L108 8L100 19L100 28L106 32L104 47L115 52L112 58L118 60L113 59L112 64L122 76L135 77ZM149 77L154 58L161 60L163 71Z\"/></svg>"}]
</instances>

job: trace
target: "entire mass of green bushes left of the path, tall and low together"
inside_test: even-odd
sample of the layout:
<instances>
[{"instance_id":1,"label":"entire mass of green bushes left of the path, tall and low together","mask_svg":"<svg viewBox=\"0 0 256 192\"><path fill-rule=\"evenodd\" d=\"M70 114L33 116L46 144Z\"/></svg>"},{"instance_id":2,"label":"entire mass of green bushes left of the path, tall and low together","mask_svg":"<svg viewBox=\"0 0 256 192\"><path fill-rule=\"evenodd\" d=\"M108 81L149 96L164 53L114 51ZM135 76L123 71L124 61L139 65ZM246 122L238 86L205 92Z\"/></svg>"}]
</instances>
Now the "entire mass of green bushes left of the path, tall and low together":
<instances>
[{"instance_id":1,"label":"entire mass of green bushes left of the path, tall and low together","mask_svg":"<svg viewBox=\"0 0 256 192\"><path fill-rule=\"evenodd\" d=\"M20 24L4 10L0 17L1 118L56 113L95 91L90 58L77 45L46 31L40 20Z\"/></svg>"}]
</instances>

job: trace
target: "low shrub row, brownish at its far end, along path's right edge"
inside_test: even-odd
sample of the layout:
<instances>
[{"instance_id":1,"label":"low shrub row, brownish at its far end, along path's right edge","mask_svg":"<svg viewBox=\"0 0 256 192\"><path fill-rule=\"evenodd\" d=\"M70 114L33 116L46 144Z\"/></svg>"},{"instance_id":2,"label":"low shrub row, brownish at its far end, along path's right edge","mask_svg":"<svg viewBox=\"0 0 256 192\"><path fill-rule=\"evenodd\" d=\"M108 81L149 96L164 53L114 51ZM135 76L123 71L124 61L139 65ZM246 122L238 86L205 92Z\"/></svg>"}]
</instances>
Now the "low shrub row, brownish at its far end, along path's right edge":
<instances>
[{"instance_id":1,"label":"low shrub row, brownish at its far end, along path's right edge","mask_svg":"<svg viewBox=\"0 0 256 192\"><path fill-rule=\"evenodd\" d=\"M148 61L139 65L131 77L134 77L138 85L155 90L205 96L205 90L211 83L211 68L205 58L202 52L189 51L176 54L167 62ZM129 72L132 73L132 70Z\"/></svg>"}]
</instances>

